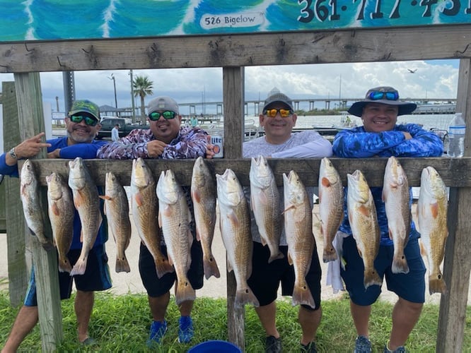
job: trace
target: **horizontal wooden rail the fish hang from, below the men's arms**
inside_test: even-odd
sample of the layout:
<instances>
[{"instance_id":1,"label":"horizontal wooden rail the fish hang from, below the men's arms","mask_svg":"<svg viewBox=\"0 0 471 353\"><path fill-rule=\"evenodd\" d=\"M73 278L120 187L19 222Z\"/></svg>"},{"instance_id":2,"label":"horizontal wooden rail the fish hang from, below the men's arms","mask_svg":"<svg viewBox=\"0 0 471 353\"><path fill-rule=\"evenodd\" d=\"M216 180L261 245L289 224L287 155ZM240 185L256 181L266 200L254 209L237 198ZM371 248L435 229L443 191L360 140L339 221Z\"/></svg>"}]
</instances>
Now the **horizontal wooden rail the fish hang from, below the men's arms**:
<instances>
[{"instance_id":1,"label":"horizontal wooden rail the fish hang from, below the men's arms","mask_svg":"<svg viewBox=\"0 0 471 353\"><path fill-rule=\"evenodd\" d=\"M310 159L270 159L277 184L283 185L283 173L291 169L296 170L306 186L317 186L319 177L320 158ZM356 169L364 172L370 186L383 185L384 169L387 158L331 158L332 163L339 170L344 185L347 185L347 173ZM470 187L471 186L471 157L447 158L399 158L407 173L410 186L420 185L422 169L432 166L441 174L447 186ZM178 181L182 185L190 185L194 160L146 160L154 177L158 177L163 170L172 169ZM249 186L248 174L250 159L207 160L214 174L223 174L226 168L231 168L236 173L240 183ZM46 185L45 177L52 172L59 172L64 177L69 174L69 160L34 160L33 164L38 170L40 182ZM86 166L97 185L105 184L106 172L114 172L124 185L129 185L131 180L132 160L86 160Z\"/></svg>"}]
</instances>

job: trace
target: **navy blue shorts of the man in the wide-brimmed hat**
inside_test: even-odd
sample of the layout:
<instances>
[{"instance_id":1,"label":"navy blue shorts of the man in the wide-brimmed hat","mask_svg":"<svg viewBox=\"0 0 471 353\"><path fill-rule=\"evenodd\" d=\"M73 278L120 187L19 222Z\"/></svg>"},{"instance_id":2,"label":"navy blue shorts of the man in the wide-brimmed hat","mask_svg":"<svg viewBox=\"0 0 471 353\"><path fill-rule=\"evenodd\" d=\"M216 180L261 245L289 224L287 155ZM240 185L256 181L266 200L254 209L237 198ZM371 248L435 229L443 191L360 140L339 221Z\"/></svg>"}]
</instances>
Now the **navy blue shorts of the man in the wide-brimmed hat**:
<instances>
[{"instance_id":1,"label":"navy blue shorts of the man in the wide-brimmed hat","mask_svg":"<svg viewBox=\"0 0 471 353\"><path fill-rule=\"evenodd\" d=\"M394 246L380 246L375 260L375 268L381 279L386 279L388 290L395 292L400 298L413 303L425 301L425 265L420 255L417 238L409 239L404 249L409 265L409 273L392 273L392 256ZM381 287L372 285L364 287L364 264L356 249L354 237L346 237L343 244L343 259L345 270L340 274L345 282L350 299L357 305L367 306L373 304L381 293Z\"/></svg>"}]
</instances>

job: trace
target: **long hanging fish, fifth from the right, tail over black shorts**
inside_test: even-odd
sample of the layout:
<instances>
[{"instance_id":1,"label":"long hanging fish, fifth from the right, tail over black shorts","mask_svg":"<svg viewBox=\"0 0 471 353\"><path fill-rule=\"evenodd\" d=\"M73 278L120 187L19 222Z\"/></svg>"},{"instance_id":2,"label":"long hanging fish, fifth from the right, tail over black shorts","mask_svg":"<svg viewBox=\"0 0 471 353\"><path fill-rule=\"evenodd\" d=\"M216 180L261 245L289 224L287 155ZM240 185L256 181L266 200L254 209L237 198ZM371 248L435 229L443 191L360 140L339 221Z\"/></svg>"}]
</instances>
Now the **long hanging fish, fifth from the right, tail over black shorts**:
<instances>
[{"instance_id":1,"label":"long hanging fish, fifth from the right, tail over black shorts","mask_svg":"<svg viewBox=\"0 0 471 353\"><path fill-rule=\"evenodd\" d=\"M313 235L312 209L308 193L298 174L291 170L283 174L284 229L288 243L288 262L294 266L293 305L305 304L315 309L313 294L306 282L315 239Z\"/></svg>"}]
</instances>

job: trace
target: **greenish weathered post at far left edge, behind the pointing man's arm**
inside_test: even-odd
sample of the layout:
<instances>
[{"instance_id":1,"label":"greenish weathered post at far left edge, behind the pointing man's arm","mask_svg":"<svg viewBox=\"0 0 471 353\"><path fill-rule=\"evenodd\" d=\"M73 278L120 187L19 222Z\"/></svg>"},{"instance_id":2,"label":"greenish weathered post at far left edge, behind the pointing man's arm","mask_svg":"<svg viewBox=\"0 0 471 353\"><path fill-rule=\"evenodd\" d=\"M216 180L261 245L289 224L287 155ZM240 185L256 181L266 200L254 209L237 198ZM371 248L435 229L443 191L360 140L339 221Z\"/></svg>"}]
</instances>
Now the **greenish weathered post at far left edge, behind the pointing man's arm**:
<instances>
[{"instance_id":1,"label":"greenish weathered post at far left edge, behind the pointing man's arm","mask_svg":"<svg viewBox=\"0 0 471 353\"><path fill-rule=\"evenodd\" d=\"M21 143L18 109L14 82L4 82L2 88L2 104L4 116L4 150L8 151ZM18 306L25 297L28 288L28 266L25 260L25 219L20 195L20 180L8 178L4 180L6 207L6 246L8 256L8 292L10 304Z\"/></svg>"}]
</instances>

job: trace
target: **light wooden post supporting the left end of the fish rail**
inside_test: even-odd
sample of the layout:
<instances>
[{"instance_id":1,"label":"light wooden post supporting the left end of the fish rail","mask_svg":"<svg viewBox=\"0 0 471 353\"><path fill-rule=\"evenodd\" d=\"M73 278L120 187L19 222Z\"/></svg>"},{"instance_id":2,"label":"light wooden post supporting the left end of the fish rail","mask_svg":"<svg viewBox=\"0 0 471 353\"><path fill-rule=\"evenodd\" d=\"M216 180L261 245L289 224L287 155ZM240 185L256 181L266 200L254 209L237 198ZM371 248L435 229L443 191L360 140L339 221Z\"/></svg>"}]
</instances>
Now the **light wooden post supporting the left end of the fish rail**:
<instances>
[{"instance_id":1,"label":"light wooden post supporting the left end of the fish rail","mask_svg":"<svg viewBox=\"0 0 471 353\"><path fill-rule=\"evenodd\" d=\"M42 112L42 93L39 73L15 73L16 97L20 121L21 140L31 138L45 131ZM42 150L38 158L47 158ZM40 188L42 209L47 210L47 189ZM45 212L47 216L47 212ZM52 231L46 217L46 237L52 238ZM45 251L39 241L32 237L33 265L37 289L37 310L41 330L42 350L52 352L62 340L62 312L59 295L59 280L56 251Z\"/></svg>"}]
</instances>

